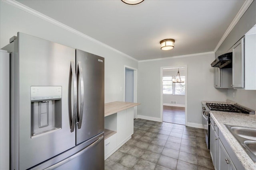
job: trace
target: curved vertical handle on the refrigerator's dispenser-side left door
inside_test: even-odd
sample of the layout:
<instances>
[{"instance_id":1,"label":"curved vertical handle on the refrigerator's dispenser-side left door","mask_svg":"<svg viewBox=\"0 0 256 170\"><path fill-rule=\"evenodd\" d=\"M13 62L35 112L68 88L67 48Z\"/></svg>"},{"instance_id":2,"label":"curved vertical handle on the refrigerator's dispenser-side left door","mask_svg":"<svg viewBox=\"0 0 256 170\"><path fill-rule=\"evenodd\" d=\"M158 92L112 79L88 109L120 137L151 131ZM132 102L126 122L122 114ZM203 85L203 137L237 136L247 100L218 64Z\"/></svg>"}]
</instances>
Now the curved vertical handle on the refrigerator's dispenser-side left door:
<instances>
[{"instance_id":1,"label":"curved vertical handle on the refrigerator's dispenser-side left door","mask_svg":"<svg viewBox=\"0 0 256 170\"><path fill-rule=\"evenodd\" d=\"M70 62L71 66L71 73L72 73L72 80L73 80L73 90L74 90L74 104L73 104L73 113L71 113L71 132L74 132L75 125L76 125L76 112L77 112L77 83L76 83L76 70L75 70L75 64L74 61ZM70 87L71 87L72 81L70 81ZM70 101L71 101L71 95L70 95Z\"/></svg>"}]
</instances>

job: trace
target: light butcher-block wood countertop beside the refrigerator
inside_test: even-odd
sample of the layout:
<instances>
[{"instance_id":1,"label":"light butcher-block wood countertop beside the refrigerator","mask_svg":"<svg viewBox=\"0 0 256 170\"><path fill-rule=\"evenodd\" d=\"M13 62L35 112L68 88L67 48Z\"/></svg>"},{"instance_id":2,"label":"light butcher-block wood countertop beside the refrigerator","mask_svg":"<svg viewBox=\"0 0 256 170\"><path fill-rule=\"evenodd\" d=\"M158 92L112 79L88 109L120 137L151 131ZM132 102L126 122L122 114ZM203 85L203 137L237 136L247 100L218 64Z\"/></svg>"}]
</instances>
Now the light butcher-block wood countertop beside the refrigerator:
<instances>
[{"instance_id":1,"label":"light butcher-block wood countertop beside the refrigerator","mask_svg":"<svg viewBox=\"0 0 256 170\"><path fill-rule=\"evenodd\" d=\"M119 111L128 109L130 107L138 106L140 103L131 102L110 102L105 104L105 117L117 113Z\"/></svg>"}]
</instances>

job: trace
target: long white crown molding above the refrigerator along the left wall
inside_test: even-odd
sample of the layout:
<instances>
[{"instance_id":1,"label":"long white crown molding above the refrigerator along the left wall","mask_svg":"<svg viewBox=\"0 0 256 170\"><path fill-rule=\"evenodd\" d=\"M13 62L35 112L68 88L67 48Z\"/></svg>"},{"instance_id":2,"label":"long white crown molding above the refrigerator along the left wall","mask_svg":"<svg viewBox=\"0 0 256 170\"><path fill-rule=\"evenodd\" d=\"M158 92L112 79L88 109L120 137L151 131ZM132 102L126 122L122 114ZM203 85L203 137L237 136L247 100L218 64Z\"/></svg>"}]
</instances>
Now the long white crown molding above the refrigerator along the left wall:
<instances>
[{"instance_id":1,"label":"long white crown molding above the refrigerator along the left wall","mask_svg":"<svg viewBox=\"0 0 256 170\"><path fill-rule=\"evenodd\" d=\"M62 29L66 29L67 31L69 31L71 33L74 33L74 34L76 34L76 35L78 35L80 37L83 37L84 39L88 39L88 40L90 40L90 41L92 41L94 43L97 43L97 44L99 44L99 45L101 45L103 47L106 47L106 48L108 48L108 49L110 49L110 50L112 50L112 51L114 51L116 53L119 53L119 54L123 55L124 57L127 57L129 59L132 59L132 60L138 62L138 60L134 59L130 55L122 53L121 51L118 51L117 49L114 49L113 47L110 47L110 46L108 46L108 45L106 45L106 44L104 44L104 43L102 43L102 42L100 42L100 41L98 41L98 40L96 40L96 39L94 39L92 37L89 37L88 35L85 35L84 33L81 33L80 31L77 31L76 29L74 29L72 27L69 27L68 25L65 25L65 24L63 24L63 23L61 23L59 21L56 21L56 20L54 20L54 19L52 19L52 18L50 18L50 17L48 17L48 16L46 16L46 15L36 11L36 10L33 10L32 8L29 8L28 6L25 6L24 4L21 4L20 2L17 2L16 0L2 0L2 1L6 2L6 3L8 3L8 4L12 5L12 6L15 6L16 8L19 8L20 10L28 12L28 13L30 13L30 14L38 17L38 18L41 18L42 20L48 21L48 22L50 22L50 23L52 23L52 24L54 24L54 25L56 25L58 27L61 27Z\"/></svg>"}]
</instances>

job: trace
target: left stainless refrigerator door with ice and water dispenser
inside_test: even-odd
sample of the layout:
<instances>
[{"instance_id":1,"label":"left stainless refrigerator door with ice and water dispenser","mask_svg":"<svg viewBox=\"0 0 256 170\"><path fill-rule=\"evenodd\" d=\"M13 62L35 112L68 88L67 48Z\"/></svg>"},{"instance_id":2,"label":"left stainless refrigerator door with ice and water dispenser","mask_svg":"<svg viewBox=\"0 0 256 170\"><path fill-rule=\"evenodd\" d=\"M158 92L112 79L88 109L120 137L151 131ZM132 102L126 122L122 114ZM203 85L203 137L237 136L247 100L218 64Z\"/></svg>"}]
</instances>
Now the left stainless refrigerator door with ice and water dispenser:
<instances>
[{"instance_id":1,"label":"left stainless refrigerator door with ice and water dispenser","mask_svg":"<svg viewBox=\"0 0 256 170\"><path fill-rule=\"evenodd\" d=\"M24 33L14 43L11 169L23 170L76 144L76 129L70 132L75 49Z\"/></svg>"}]
</instances>

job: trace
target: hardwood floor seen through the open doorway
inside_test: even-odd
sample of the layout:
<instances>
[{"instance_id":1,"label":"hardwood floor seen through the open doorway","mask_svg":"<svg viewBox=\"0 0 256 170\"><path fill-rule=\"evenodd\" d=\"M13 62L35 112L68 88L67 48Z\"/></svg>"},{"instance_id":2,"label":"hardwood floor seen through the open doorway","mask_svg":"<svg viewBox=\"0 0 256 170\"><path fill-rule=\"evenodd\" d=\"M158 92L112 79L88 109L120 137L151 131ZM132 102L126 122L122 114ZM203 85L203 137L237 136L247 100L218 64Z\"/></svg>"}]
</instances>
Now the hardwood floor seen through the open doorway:
<instances>
[{"instance_id":1,"label":"hardwood floor seen through the open doorway","mask_svg":"<svg viewBox=\"0 0 256 170\"><path fill-rule=\"evenodd\" d=\"M163 121L185 125L185 107L163 106Z\"/></svg>"}]
</instances>

